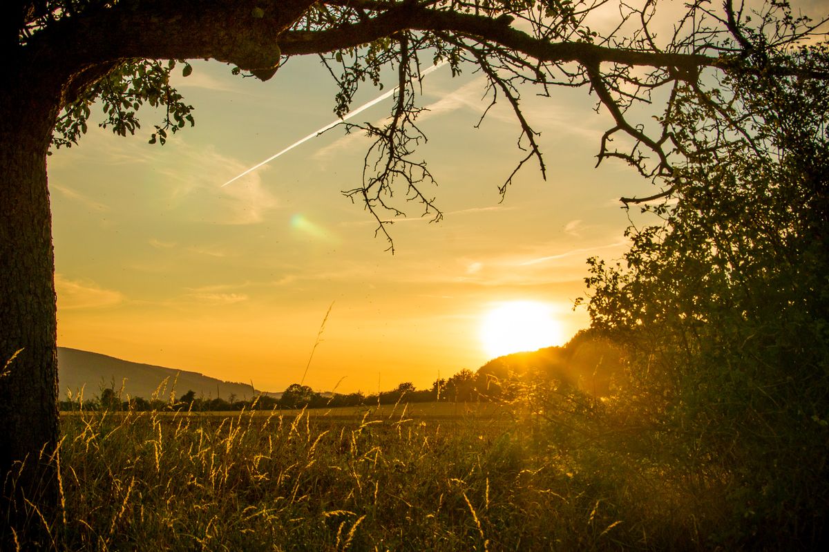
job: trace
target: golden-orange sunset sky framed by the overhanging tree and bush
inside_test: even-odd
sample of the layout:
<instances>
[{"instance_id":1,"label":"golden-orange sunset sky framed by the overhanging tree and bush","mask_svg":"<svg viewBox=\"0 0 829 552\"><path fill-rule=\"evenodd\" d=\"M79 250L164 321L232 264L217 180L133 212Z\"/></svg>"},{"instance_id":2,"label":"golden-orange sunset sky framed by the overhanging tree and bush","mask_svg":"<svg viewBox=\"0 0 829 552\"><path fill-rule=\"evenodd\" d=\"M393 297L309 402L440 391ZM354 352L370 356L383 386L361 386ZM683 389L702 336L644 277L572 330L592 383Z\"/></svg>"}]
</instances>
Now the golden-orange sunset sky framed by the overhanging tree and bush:
<instances>
[{"instance_id":1,"label":"golden-orange sunset sky framed by the overhanging tree and bush","mask_svg":"<svg viewBox=\"0 0 829 552\"><path fill-rule=\"evenodd\" d=\"M528 163L501 202L497 186L522 156L517 123L504 103L473 128L483 79L444 68L424 80L420 153L445 219L429 224L410 204L390 227L391 255L340 193L360 182L368 145L342 128L221 187L332 122L336 90L316 58L288 61L267 83L216 62L194 69L177 85L195 128L149 145L148 111L135 137L90 125L48 160L61 346L279 391L302 379L333 303L307 385L427 387L509 348L492 337L520 328L493 330L505 303L540 303L535 315L549 317L533 348L586 327L584 308L573 311L584 260L622 254L618 197L651 190L622 163L594 168L610 119L586 90L557 90L523 103L548 179ZM354 106L379 94L366 86ZM390 101L354 120L381 121Z\"/></svg>"}]
</instances>

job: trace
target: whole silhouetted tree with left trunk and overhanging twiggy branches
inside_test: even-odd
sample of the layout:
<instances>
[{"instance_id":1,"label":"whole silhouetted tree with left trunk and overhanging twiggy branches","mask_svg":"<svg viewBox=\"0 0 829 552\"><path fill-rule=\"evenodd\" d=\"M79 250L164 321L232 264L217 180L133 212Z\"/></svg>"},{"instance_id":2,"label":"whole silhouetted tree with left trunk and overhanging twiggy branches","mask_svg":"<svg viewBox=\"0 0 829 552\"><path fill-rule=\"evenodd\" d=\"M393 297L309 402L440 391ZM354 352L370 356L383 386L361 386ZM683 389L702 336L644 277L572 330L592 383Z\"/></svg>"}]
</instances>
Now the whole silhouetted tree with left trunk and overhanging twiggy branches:
<instances>
[{"instance_id":1,"label":"whole silhouetted tree with left trunk and overhanging twiggy branches","mask_svg":"<svg viewBox=\"0 0 829 552\"><path fill-rule=\"evenodd\" d=\"M611 114L599 161L621 157L639 170L670 177L681 119L676 90L684 102L708 109L728 106L719 83L701 79L701 70L720 75L758 71L802 79L826 75L820 62L791 63L774 56L787 52L811 29L773 2L763 17L750 20L731 0L714 13L704 0L692 0L676 31L657 42L650 28L657 2L625 4L623 21L612 31L588 27L591 12L605 2L374 2L371 0L5 0L0 3L0 481L14 462L53 450L58 441L56 388L56 297L51 212L46 185L50 144L68 146L85 133L90 105L104 107L102 126L125 135L138 128L136 110L150 104L162 114L151 143L193 123L191 106L169 84L172 70L187 59L216 59L261 80L274 76L287 56L321 55L339 93L336 112L347 113L361 83L380 82L395 71L400 90L382 127L360 128L376 139L366 156L365 178L347 191L376 217L386 233L388 214L399 215L397 196L432 201L434 182L425 163L414 157L422 134L415 125L415 102L422 61L445 61L454 73L463 65L481 70L492 99L500 94L514 109L526 157L545 172L536 132L520 109L519 83L547 93L550 85L582 85ZM658 19L658 18L657 18ZM759 22L759 23L755 23ZM513 24L515 23L515 24ZM756 24L757 27L749 27ZM767 36L768 35L768 36ZM765 39L765 40L761 40ZM758 69L747 63L766 60ZM807 60L809 61L809 60ZM654 90L665 94L652 94ZM628 112L638 100L665 96L665 116L652 127ZM728 109L711 116L730 120ZM648 122L653 112L648 113ZM653 133L646 132L653 128ZM745 129L750 132L750 128ZM621 138L633 141L630 146ZM614 144L621 144L613 149ZM653 160L648 164L648 160ZM502 186L506 190L515 172ZM657 182L662 184L663 181ZM657 196L664 196L660 191ZM14 358L11 364L6 361ZM232 401L231 401L232 402ZM44 448L44 446L46 448ZM46 453L48 458L50 453ZM45 492L56 505L57 479L50 462L31 462L17 478L21 504ZM37 467L37 469L35 469ZM46 472L41 472L41 468ZM23 496L26 496L26 500ZM42 513L42 509L41 509ZM13 519L8 526L17 526ZM21 526L22 528L22 526ZM0 538L4 538L0 535Z\"/></svg>"}]
</instances>

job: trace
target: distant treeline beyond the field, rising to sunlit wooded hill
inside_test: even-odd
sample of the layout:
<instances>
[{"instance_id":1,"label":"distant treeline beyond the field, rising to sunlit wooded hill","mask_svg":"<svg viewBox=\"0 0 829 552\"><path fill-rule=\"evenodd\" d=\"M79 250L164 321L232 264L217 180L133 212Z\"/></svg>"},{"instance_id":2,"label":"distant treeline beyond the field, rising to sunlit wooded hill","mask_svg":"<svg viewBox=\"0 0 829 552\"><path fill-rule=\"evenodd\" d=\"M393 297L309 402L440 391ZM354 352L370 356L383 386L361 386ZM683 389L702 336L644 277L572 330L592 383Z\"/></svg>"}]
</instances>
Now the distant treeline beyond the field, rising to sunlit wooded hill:
<instances>
[{"instance_id":1,"label":"distant treeline beyond the field, rising to sunlit wooded hill","mask_svg":"<svg viewBox=\"0 0 829 552\"><path fill-rule=\"evenodd\" d=\"M118 390L107 388L95 399L64 400L61 410L191 410L194 412L227 410L272 410L302 408L336 408L371 404L448 402L486 402L511 400L525 394L532 386L565 385L588 393L607 395L611 380L621 371L618 349L608 341L577 334L567 345L547 347L533 352L514 353L487 362L478 369L460 370L448 379L434 380L429 389L419 390L409 381L380 394L318 393L308 385L291 384L278 397L267 394L253 399L227 399L196 396L188 390L178 399L124 398Z\"/></svg>"}]
</instances>

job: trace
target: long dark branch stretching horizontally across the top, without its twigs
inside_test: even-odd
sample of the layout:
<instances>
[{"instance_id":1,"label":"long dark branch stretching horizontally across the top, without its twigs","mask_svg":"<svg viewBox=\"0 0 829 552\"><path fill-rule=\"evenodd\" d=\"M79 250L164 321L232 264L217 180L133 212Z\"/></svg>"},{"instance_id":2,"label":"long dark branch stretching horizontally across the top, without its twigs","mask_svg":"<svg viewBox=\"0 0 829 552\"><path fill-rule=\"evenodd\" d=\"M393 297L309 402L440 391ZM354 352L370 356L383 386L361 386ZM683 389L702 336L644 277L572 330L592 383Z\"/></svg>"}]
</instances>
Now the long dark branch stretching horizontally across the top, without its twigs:
<instances>
[{"instance_id":1,"label":"long dark branch stretching horizontally across the top, without its twigs","mask_svg":"<svg viewBox=\"0 0 829 552\"><path fill-rule=\"evenodd\" d=\"M90 66L128 59L210 58L233 63L267 80L274 75L281 56L347 49L407 30L466 36L529 56L541 64L578 62L585 66L611 63L673 67L679 78L696 75L702 67L731 70L740 65L729 56L655 51L647 46L599 46L569 39L551 41L550 37L531 36L511 27L507 19L430 7L429 2L371 2L371 6L366 4L369 10L363 12L360 22L296 29L296 23L313 3L313 0L123 0L114 7L62 17L37 31L23 49L22 65L39 66L46 75L66 82L76 80L75 75L88 71ZM337 4L343 2L331 3L337 10L353 10L353 5L346 8ZM62 55L52 56L54 51L61 51ZM787 74L796 70L777 68L776 72ZM67 98L71 95L67 94Z\"/></svg>"}]
</instances>

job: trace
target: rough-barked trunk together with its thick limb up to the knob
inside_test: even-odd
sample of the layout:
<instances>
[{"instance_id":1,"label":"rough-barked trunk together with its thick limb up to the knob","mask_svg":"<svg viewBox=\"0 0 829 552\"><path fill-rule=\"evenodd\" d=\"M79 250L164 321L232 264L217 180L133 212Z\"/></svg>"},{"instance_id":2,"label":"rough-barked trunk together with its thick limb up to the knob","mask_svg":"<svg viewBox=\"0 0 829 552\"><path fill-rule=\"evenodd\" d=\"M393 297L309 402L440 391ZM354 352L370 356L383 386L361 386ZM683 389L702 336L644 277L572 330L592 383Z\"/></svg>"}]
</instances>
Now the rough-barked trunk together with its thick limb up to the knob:
<instances>
[{"instance_id":1,"label":"rough-barked trunk together with its thick limb up to the knob","mask_svg":"<svg viewBox=\"0 0 829 552\"><path fill-rule=\"evenodd\" d=\"M25 47L30 2L0 9L0 549L46 545L57 506L55 258L46 156L57 115L77 94L133 57L203 57L269 78L275 36L312 2L121 2L67 17ZM255 5L268 17L251 15ZM13 40L9 33L13 33ZM35 513L35 509L38 513Z\"/></svg>"}]
</instances>

